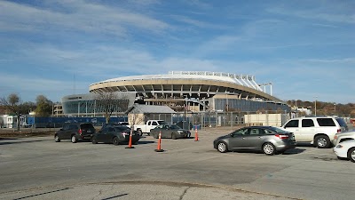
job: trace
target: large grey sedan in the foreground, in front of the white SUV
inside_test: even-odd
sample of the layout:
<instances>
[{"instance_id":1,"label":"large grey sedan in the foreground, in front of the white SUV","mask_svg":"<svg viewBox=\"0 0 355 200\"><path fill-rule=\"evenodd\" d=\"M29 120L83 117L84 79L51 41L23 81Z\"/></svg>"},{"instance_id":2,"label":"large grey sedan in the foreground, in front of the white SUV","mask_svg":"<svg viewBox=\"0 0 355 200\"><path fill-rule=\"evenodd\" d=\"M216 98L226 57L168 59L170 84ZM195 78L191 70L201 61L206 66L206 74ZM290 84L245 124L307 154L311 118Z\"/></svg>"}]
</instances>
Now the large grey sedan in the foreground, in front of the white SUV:
<instances>
[{"instance_id":1,"label":"large grey sedan in the foreground, in front of the white SUV","mask_svg":"<svg viewBox=\"0 0 355 200\"><path fill-rule=\"evenodd\" d=\"M277 127L248 126L218 137L213 141L213 147L221 153L248 149L261 150L271 156L295 148L296 141L292 132Z\"/></svg>"}]
</instances>

